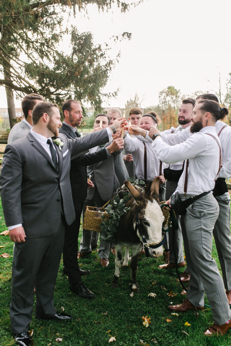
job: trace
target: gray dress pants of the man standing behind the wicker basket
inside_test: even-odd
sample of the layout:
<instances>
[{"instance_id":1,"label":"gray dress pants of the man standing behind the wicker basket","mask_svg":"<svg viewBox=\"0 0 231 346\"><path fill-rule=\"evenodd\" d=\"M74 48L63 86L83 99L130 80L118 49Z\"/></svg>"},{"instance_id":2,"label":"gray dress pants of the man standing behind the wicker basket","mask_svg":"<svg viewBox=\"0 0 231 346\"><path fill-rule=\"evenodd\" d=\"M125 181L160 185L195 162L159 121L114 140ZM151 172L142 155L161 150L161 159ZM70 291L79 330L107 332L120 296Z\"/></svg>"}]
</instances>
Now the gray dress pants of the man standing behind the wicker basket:
<instances>
[{"instance_id":1,"label":"gray dress pants of the man standing behind the wicker basket","mask_svg":"<svg viewBox=\"0 0 231 346\"><path fill-rule=\"evenodd\" d=\"M103 207L107 201L101 199L97 187L95 188L94 196L92 200L86 199L83 203L83 218L86 206L90 207ZM83 228L83 234L81 243L79 246L79 251L86 253L90 252L92 247L95 247L98 244L99 233L94 231L89 231ZM110 243L100 241L99 244L99 257L108 258L110 254Z\"/></svg>"}]
</instances>

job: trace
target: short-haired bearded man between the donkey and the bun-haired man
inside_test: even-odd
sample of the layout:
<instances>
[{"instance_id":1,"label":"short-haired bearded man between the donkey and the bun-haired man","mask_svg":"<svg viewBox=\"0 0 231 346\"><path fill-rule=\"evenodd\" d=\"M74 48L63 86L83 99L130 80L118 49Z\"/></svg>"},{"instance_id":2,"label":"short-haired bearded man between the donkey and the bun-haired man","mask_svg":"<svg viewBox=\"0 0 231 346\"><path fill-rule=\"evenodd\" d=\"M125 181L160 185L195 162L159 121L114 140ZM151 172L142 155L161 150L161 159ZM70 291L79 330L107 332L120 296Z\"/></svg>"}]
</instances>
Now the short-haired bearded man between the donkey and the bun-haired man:
<instances>
[{"instance_id":1,"label":"short-haired bearded man between the donkey and the bun-haired man","mask_svg":"<svg viewBox=\"0 0 231 346\"><path fill-rule=\"evenodd\" d=\"M195 106L196 100L192 98L184 99L180 105L178 111L178 123L180 124L176 129L171 127L169 130L163 131L161 134L167 135L170 133L178 134L181 131L185 131L185 129L189 129L192 121L190 118L193 115L193 109ZM164 171L166 182L166 200L168 200L174 191L177 188L178 181L180 179L184 162L177 162L175 164L169 165L167 169ZM177 215L178 229L175 231L175 239L173 239L173 232L170 230L168 232L168 245L169 249L165 249L165 264L159 265L159 268L171 269L175 268L175 263L177 261L178 267L184 267L184 254L183 254L183 240L182 233L180 228L180 216ZM174 247L176 251L177 258L174 256ZM184 277L182 277L182 281L188 281L190 274L185 272Z\"/></svg>"}]
</instances>

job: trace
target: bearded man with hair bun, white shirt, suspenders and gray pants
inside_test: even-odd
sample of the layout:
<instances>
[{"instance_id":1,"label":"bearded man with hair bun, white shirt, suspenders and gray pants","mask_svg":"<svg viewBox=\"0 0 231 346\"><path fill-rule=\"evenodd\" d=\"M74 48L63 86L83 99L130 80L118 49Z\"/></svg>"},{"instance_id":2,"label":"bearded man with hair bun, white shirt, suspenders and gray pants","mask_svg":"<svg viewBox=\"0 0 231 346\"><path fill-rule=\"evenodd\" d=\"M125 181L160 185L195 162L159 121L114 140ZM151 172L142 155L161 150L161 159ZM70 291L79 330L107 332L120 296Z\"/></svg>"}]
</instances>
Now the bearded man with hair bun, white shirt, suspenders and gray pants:
<instances>
[{"instance_id":1,"label":"bearded man with hair bun, white shirt, suspenders and gray pants","mask_svg":"<svg viewBox=\"0 0 231 346\"><path fill-rule=\"evenodd\" d=\"M231 328L224 283L212 258L213 228L219 215L219 205L212 190L221 167L221 145L215 123L227 114L228 109L215 101L199 101L191 117L193 135L175 146L163 142L156 128L149 131L152 145L163 162L173 164L187 160L176 192L181 201L189 199L193 202L181 215L185 256L191 276L187 299L182 304L169 306L169 309L175 312L203 310L206 293L214 319L214 324L204 332L206 336L224 335Z\"/></svg>"}]
</instances>

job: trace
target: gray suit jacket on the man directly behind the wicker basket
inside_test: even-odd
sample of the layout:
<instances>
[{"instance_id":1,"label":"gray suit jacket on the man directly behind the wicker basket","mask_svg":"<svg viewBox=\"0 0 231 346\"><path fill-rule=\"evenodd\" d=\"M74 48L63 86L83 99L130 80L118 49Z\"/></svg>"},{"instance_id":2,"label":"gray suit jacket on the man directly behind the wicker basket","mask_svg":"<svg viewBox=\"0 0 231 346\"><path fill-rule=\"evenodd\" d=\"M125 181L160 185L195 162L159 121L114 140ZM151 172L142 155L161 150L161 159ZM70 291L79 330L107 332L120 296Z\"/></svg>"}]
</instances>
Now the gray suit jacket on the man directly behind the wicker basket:
<instances>
[{"instance_id":1,"label":"gray suit jacket on the man directly behind the wicker basket","mask_svg":"<svg viewBox=\"0 0 231 346\"><path fill-rule=\"evenodd\" d=\"M104 147L108 145L110 145L110 143L105 144ZM87 167L87 174L91 174L91 181L95 185L94 188L87 189L87 200L93 198L96 186L100 197L104 201L108 201L112 198L113 193L120 186L114 166L116 157L119 153L121 153L121 150L112 153L107 160Z\"/></svg>"}]
</instances>

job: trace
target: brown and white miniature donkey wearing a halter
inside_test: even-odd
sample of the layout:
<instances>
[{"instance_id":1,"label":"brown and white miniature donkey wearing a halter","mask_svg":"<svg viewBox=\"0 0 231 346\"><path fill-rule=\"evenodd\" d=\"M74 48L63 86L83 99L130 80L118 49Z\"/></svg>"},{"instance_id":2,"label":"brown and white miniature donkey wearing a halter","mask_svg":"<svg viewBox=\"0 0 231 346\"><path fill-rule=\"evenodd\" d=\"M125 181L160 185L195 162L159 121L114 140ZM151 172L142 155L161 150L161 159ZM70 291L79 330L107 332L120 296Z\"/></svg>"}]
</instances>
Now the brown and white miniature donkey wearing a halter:
<instances>
[{"instance_id":1,"label":"brown and white miniature donkey wearing a halter","mask_svg":"<svg viewBox=\"0 0 231 346\"><path fill-rule=\"evenodd\" d=\"M132 291L139 293L136 271L138 256L142 247L146 248L146 256L157 258L163 254L163 248L161 245L159 246L162 240L162 223L164 220L159 206L160 178L157 177L153 180L150 194L147 194L146 191L145 194L141 194L128 181L125 181L124 184L132 195L131 199L126 203L126 207L131 207L131 209L121 217L115 233L116 268L112 287L118 287L119 271L122 265L128 265L129 248L131 248ZM152 248L152 245L156 246L156 248ZM123 262L124 247L125 257Z\"/></svg>"}]
</instances>

